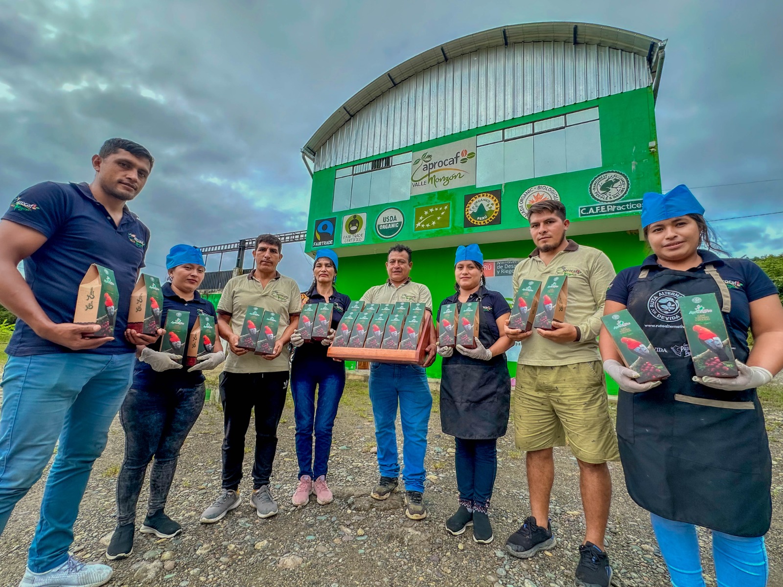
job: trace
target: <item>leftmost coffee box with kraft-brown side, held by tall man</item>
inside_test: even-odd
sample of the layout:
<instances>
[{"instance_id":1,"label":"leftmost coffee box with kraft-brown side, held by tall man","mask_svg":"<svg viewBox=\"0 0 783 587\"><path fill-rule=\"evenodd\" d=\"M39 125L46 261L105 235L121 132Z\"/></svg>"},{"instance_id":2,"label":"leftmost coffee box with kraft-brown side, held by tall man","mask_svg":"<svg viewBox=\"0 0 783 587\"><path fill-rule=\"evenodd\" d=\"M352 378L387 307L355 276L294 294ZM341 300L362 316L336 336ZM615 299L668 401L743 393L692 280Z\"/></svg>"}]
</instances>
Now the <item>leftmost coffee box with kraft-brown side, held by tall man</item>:
<instances>
[{"instance_id":1,"label":"leftmost coffee box with kraft-brown side, held by tall man","mask_svg":"<svg viewBox=\"0 0 783 587\"><path fill-rule=\"evenodd\" d=\"M97 324L100 330L83 334L84 338L114 336L114 322L117 321L117 305L120 294L114 271L93 263L81 279L76 295L75 324Z\"/></svg>"}]
</instances>

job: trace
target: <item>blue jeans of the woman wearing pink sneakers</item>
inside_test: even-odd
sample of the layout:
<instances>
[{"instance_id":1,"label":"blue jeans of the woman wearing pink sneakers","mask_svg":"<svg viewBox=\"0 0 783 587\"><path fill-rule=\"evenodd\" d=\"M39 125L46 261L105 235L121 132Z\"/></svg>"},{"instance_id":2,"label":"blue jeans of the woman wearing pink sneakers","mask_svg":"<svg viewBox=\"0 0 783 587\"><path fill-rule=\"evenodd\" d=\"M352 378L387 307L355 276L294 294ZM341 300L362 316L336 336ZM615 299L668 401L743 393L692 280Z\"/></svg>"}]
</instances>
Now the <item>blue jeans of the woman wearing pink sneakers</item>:
<instances>
[{"instance_id":1,"label":"blue jeans of the woman wearing pink sneakers","mask_svg":"<svg viewBox=\"0 0 783 587\"><path fill-rule=\"evenodd\" d=\"M318 402L316 405L316 384ZM345 389L345 364L327 359L297 362L291 366L291 397L296 420L296 458L299 477L317 479L327 474L332 449L332 428ZM312 433L316 433L315 459Z\"/></svg>"}]
</instances>

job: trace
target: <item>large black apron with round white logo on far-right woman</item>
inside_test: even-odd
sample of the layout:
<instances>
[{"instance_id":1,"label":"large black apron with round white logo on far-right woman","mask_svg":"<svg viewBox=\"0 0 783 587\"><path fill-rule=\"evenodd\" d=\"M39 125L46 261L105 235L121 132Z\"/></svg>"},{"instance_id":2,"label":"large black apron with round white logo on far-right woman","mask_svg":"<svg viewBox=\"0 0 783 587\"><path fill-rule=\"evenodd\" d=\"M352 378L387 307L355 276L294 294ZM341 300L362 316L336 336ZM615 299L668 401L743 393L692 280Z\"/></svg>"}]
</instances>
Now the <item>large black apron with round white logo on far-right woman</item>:
<instances>
[{"instance_id":1,"label":"large black apron with round white logo on far-right woman","mask_svg":"<svg viewBox=\"0 0 783 587\"><path fill-rule=\"evenodd\" d=\"M695 371L684 329L655 327L681 326L679 310L673 322L650 312L651 298L662 290L673 297L714 293L723 312L731 311L731 294L712 265L705 272L640 272L628 310L664 351L671 376L650 391L619 392L617 436L628 493L668 520L762 536L772 517L772 462L756 390L720 391L691 380ZM745 362L747 352L731 330L729 338L736 358Z\"/></svg>"}]
</instances>

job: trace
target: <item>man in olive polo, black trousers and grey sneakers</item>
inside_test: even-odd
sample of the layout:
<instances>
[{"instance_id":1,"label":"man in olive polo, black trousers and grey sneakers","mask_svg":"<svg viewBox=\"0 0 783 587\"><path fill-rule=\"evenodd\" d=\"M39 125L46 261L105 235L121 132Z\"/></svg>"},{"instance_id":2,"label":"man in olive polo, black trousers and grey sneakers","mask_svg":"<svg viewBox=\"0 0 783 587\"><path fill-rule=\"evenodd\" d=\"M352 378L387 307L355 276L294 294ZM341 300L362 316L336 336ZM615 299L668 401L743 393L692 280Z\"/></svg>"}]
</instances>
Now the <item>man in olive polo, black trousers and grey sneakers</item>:
<instances>
[{"instance_id":1,"label":"man in olive polo, black trousers and grey sneakers","mask_svg":"<svg viewBox=\"0 0 783 587\"><path fill-rule=\"evenodd\" d=\"M288 341L299 322L299 286L277 272L283 258L280 239L262 234L255 239L255 269L226 283L218 302L218 330L228 340L231 352L220 375L223 405L223 482L218 499L204 511L201 521L222 520L240 505L244 441L255 409L255 458L251 505L258 517L272 517L277 504L269 492L269 476L277 448L277 425L283 413L288 389ZM280 314L272 355L255 355L239 348L239 333L248 306L258 306Z\"/></svg>"}]
</instances>

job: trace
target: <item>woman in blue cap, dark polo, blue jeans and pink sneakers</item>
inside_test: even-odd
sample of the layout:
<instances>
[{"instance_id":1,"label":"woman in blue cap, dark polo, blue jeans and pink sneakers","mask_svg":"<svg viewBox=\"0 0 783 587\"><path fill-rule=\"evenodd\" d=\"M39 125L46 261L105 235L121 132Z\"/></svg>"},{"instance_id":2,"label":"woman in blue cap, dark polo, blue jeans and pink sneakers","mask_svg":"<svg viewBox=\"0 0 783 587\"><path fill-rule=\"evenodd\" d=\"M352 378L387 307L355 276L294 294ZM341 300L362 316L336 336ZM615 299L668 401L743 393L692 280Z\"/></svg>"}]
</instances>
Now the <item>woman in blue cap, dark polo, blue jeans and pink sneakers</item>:
<instances>
[{"instance_id":1,"label":"woman in blue cap, dark polo, blue jeans and pink sneakers","mask_svg":"<svg viewBox=\"0 0 783 587\"><path fill-rule=\"evenodd\" d=\"M326 505L333 499L327 485L327 466L332 448L332 427L337 416L345 388L345 364L327 357L327 349L334 340L334 329L351 304L351 298L334 289L337 279L337 254L331 249L319 249L312 267L312 286L302 294L302 304L334 304L329 337L321 342L307 342L294 331L291 344L294 358L291 361L291 395L294 398L296 420L296 456L299 462L299 483L291 502L305 506L312 493L319 504ZM316 385L318 405L316 406ZM313 457L313 430L316 436Z\"/></svg>"}]
</instances>

